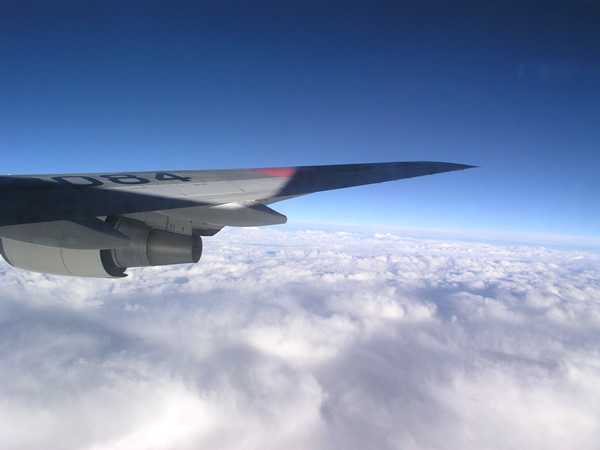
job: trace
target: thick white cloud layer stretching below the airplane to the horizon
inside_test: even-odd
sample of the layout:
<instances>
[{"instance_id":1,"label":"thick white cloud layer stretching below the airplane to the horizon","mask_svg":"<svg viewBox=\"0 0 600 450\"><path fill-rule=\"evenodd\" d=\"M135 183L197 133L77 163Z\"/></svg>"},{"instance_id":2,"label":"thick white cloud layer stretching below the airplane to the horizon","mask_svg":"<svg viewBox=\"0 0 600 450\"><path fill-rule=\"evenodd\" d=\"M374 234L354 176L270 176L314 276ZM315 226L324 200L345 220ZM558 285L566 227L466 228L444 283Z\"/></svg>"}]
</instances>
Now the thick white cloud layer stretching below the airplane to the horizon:
<instances>
[{"instance_id":1,"label":"thick white cloud layer stretching below the airplane to the horizon","mask_svg":"<svg viewBox=\"0 0 600 450\"><path fill-rule=\"evenodd\" d=\"M591 448L600 258L274 229L125 280L0 266L7 448Z\"/></svg>"}]
</instances>

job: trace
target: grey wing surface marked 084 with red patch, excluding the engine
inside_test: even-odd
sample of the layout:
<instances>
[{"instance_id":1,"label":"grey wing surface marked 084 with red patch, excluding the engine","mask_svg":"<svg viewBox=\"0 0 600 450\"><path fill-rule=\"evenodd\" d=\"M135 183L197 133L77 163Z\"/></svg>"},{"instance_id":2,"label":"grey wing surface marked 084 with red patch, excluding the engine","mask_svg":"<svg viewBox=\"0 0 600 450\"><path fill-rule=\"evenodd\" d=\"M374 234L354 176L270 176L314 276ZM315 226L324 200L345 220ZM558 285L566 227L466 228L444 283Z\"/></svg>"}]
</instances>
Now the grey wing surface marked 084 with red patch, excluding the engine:
<instances>
[{"instance_id":1,"label":"grey wing surface marked 084 with red patch, excluding the engine","mask_svg":"<svg viewBox=\"0 0 600 450\"><path fill-rule=\"evenodd\" d=\"M0 177L0 227L149 212L160 212L167 216L172 212L174 217L193 216L203 223L217 226L255 226L264 224L260 223L261 216L266 219L271 214L272 210L264 205L288 198L470 167L473 166L396 162L269 169L3 176ZM212 209L214 214L205 214L206 220L203 220L202 208L207 211ZM244 209L248 209L246 216L255 217L255 220L240 217L237 223L236 216L244 216L240 214ZM187 214L185 210L188 210ZM283 220L276 215L272 215L272 218Z\"/></svg>"}]
</instances>

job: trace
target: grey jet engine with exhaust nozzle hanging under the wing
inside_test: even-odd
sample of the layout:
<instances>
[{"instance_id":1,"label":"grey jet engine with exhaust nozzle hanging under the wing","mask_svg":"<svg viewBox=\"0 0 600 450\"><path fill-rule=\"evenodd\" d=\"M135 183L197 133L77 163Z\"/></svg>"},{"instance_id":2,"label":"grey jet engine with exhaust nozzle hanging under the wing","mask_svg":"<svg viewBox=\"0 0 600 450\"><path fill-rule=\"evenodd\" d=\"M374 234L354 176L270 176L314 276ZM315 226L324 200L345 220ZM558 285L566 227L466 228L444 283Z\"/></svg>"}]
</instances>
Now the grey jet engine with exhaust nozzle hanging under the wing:
<instances>
[{"instance_id":1,"label":"grey jet engine with exhaust nozzle hanging under the wing","mask_svg":"<svg viewBox=\"0 0 600 450\"><path fill-rule=\"evenodd\" d=\"M9 264L34 272L75 277L125 277L129 267L197 263L202 255L200 236L151 229L124 220L114 227L131 240L129 247L74 250L0 239L0 253Z\"/></svg>"}]
</instances>

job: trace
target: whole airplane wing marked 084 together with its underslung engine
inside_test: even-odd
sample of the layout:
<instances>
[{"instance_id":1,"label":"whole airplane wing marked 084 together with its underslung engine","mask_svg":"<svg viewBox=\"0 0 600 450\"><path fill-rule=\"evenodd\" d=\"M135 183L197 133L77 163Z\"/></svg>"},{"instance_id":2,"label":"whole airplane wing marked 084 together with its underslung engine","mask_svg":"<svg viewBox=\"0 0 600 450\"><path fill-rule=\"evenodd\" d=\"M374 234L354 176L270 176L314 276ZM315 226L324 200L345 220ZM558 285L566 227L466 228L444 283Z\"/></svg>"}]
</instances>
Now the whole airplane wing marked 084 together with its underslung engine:
<instances>
[{"instance_id":1,"label":"whole airplane wing marked 084 together with its underslung engine","mask_svg":"<svg viewBox=\"0 0 600 450\"><path fill-rule=\"evenodd\" d=\"M197 262L201 236L285 223L273 203L474 166L394 162L265 169L1 176L0 252L27 270L123 277Z\"/></svg>"}]
</instances>

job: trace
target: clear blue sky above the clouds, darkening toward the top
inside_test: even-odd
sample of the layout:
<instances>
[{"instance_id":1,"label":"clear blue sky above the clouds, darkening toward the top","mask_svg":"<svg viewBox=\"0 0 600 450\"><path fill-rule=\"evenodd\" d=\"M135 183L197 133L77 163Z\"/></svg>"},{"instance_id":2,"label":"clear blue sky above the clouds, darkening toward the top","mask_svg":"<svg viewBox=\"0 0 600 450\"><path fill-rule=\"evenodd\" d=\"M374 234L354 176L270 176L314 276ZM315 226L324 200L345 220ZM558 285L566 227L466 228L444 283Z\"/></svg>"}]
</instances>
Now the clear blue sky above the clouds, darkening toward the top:
<instances>
[{"instance_id":1,"label":"clear blue sky above the clouds, darkening toward the top","mask_svg":"<svg viewBox=\"0 0 600 450\"><path fill-rule=\"evenodd\" d=\"M600 6L0 6L4 173L440 160L306 220L598 236Z\"/></svg>"}]
</instances>

